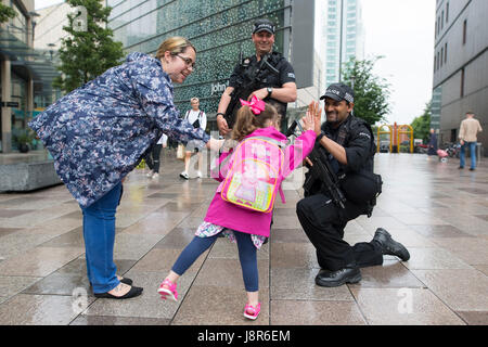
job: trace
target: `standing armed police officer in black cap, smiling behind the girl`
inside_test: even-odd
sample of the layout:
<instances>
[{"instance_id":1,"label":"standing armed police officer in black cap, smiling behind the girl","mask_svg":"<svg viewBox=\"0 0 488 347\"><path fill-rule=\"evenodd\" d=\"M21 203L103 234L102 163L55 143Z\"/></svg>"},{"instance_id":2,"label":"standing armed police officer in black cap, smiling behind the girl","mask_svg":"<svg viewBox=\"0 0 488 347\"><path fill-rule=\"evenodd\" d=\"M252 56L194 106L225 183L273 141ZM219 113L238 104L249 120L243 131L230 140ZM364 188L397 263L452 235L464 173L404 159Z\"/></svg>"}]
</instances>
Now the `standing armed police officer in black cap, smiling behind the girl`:
<instances>
[{"instance_id":1,"label":"standing armed police officer in black cap, smiling behind the girl","mask_svg":"<svg viewBox=\"0 0 488 347\"><path fill-rule=\"evenodd\" d=\"M232 130L239 99L251 100L256 95L277 107L282 118L286 115L288 102L296 100L296 83L293 66L282 54L273 52L275 26L269 20L258 20L253 27L253 42L256 54L243 59L223 91L217 110L217 126L222 136Z\"/></svg>"}]
</instances>

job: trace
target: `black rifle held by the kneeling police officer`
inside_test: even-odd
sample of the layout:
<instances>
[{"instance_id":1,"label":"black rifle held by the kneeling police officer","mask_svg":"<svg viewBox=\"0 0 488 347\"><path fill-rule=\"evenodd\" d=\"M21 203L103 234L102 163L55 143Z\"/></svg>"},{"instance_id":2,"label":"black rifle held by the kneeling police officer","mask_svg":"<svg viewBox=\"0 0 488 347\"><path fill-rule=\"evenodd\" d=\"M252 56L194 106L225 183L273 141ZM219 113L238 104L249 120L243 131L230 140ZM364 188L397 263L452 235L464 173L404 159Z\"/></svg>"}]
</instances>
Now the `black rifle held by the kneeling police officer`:
<instances>
[{"instance_id":1,"label":"black rifle held by the kneeling police officer","mask_svg":"<svg viewBox=\"0 0 488 347\"><path fill-rule=\"evenodd\" d=\"M286 130L285 136L290 137L294 134L296 127L304 132L299 121L294 120ZM309 171L306 175L304 183L305 196L313 194L312 189L316 184L320 184L320 192L326 193L334 204L341 208L345 208L344 203L346 202L346 196L339 189L337 175L335 175L335 171L331 167L328 154L328 151L319 142L316 142L312 152L308 155L312 166L306 165Z\"/></svg>"}]
</instances>

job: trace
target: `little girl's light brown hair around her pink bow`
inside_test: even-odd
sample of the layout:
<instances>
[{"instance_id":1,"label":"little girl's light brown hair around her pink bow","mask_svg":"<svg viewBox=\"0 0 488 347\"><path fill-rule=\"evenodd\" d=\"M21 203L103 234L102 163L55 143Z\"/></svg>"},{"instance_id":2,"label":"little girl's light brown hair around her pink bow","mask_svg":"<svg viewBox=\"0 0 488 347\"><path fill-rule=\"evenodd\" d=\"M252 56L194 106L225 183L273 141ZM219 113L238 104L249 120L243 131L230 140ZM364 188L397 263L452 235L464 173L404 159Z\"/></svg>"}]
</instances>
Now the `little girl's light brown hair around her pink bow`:
<instances>
[{"instance_id":1,"label":"little girl's light brown hair around her pink bow","mask_svg":"<svg viewBox=\"0 0 488 347\"><path fill-rule=\"evenodd\" d=\"M267 121L271 120L274 126L280 126L281 117L273 105L266 104L265 111L255 115L249 106L242 106L237 111L235 125L232 129L232 139L242 141L246 136L259 128L266 128Z\"/></svg>"}]
</instances>

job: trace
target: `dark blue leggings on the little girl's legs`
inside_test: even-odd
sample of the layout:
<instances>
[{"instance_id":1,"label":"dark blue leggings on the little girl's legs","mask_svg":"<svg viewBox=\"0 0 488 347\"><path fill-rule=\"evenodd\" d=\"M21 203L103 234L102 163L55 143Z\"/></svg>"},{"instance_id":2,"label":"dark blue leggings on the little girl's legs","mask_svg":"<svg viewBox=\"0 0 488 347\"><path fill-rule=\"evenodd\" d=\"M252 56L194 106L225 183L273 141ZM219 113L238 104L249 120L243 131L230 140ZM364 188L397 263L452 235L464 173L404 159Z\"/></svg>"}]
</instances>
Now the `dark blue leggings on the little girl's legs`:
<instances>
[{"instance_id":1,"label":"dark blue leggings on the little girl's legs","mask_svg":"<svg viewBox=\"0 0 488 347\"><path fill-rule=\"evenodd\" d=\"M256 246L251 234L233 230L239 248L239 260L241 261L242 277L246 292L259 290L259 274L257 268ZM195 260L207 250L217 240L218 234L208 237L193 237L192 242L183 249L172 266L171 270L182 275Z\"/></svg>"}]
</instances>

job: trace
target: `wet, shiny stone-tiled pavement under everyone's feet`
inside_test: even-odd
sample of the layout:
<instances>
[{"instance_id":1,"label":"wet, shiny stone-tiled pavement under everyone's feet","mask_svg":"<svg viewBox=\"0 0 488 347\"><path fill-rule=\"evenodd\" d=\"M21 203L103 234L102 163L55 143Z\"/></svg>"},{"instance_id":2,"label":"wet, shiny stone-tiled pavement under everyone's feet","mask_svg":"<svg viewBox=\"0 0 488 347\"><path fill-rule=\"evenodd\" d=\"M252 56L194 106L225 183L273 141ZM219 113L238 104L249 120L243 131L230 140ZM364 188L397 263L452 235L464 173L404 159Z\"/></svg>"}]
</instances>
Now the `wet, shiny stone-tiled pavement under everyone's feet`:
<instances>
[{"instance_id":1,"label":"wet, shiny stone-tiled pavement under everyone's feet","mask_svg":"<svg viewBox=\"0 0 488 347\"><path fill-rule=\"evenodd\" d=\"M295 215L300 190L277 198L270 242L258 252L260 317L246 300L236 246L218 239L179 281L179 303L156 293L203 220L217 183L182 180L166 152L157 179L130 174L117 213L118 273L140 297L97 299L86 277L81 213L64 185L0 193L0 324L364 325L488 324L488 159L476 171L459 160L378 154L383 194L371 218L348 223L346 241L387 229L410 250L402 262L361 270L362 281L314 284L314 248Z\"/></svg>"}]
</instances>

